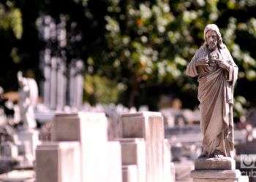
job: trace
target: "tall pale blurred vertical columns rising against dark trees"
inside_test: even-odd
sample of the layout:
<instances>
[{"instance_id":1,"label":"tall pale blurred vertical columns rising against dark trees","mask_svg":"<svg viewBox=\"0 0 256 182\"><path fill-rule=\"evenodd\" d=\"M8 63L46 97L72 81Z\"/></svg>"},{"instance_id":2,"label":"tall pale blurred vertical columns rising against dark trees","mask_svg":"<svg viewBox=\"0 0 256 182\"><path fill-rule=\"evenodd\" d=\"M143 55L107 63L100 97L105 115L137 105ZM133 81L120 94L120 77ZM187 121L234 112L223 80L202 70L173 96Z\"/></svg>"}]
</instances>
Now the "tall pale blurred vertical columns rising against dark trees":
<instances>
[{"instance_id":1,"label":"tall pale blurred vertical columns rising against dark trees","mask_svg":"<svg viewBox=\"0 0 256 182\"><path fill-rule=\"evenodd\" d=\"M52 110L63 111L64 106L70 106L77 111L83 103L84 65L79 55L67 52L67 20L62 15L56 18L44 15L37 24L43 45L39 59L44 104ZM79 41L75 36L78 35L69 32L69 39L72 39L69 46Z\"/></svg>"}]
</instances>

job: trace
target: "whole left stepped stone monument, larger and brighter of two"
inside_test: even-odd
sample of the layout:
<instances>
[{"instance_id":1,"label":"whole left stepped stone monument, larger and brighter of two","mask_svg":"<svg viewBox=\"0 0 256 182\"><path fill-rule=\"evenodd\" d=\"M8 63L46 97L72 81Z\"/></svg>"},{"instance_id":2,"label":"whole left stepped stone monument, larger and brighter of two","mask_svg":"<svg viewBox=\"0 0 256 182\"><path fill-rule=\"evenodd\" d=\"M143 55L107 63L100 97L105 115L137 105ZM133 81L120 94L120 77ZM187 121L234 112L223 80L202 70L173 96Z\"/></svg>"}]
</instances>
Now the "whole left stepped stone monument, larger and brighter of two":
<instances>
[{"instance_id":1,"label":"whole left stepped stone monument, larger and brighter of two","mask_svg":"<svg viewBox=\"0 0 256 182\"><path fill-rule=\"evenodd\" d=\"M51 136L54 145L42 143L37 147L37 165L41 167L36 168L37 181L122 181L121 145L118 141L108 141L108 120L105 114L57 113L51 128ZM78 142L79 160L76 163L71 162L72 158L76 158L75 153L72 158L60 155L62 151L66 154L66 149L61 148L63 143L67 143L68 146L70 142ZM74 166L80 169L77 180L73 179L78 175L72 172ZM47 167L53 170L53 173L45 176L45 173L49 172Z\"/></svg>"}]
</instances>

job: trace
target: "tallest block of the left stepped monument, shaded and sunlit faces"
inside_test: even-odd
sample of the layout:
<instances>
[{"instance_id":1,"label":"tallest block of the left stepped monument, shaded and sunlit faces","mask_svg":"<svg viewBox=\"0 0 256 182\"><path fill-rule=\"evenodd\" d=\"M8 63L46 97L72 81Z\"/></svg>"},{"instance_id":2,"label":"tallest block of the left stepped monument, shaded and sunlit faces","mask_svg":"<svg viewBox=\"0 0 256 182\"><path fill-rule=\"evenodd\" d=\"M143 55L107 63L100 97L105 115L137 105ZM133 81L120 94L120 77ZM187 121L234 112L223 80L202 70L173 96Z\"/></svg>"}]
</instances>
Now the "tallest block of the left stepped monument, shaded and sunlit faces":
<instances>
[{"instance_id":1,"label":"tallest block of the left stepped monument, shaded and sunlit faces","mask_svg":"<svg viewBox=\"0 0 256 182\"><path fill-rule=\"evenodd\" d=\"M56 114L53 141L79 141L83 182L105 181L108 149L108 122L105 114Z\"/></svg>"}]
</instances>

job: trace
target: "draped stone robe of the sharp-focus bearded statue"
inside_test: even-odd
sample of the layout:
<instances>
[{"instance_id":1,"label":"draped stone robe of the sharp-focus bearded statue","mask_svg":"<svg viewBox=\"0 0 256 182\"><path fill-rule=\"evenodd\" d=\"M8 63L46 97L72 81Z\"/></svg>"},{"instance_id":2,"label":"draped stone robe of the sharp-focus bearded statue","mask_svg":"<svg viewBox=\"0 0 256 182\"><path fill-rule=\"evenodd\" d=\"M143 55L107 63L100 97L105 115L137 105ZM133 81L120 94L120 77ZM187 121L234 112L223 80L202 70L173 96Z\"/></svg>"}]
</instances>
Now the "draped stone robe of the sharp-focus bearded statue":
<instances>
[{"instance_id":1,"label":"draped stone robe of the sharp-focus bearded statue","mask_svg":"<svg viewBox=\"0 0 256 182\"><path fill-rule=\"evenodd\" d=\"M238 75L238 66L234 63L227 47L217 49L217 55L229 65L229 71L217 64L195 66L197 60L209 57L211 53L206 45L200 47L187 66L188 76L197 76L198 100L200 101L200 129L203 133L203 153L210 157L219 150L230 157L234 149L233 135L233 90Z\"/></svg>"}]
</instances>

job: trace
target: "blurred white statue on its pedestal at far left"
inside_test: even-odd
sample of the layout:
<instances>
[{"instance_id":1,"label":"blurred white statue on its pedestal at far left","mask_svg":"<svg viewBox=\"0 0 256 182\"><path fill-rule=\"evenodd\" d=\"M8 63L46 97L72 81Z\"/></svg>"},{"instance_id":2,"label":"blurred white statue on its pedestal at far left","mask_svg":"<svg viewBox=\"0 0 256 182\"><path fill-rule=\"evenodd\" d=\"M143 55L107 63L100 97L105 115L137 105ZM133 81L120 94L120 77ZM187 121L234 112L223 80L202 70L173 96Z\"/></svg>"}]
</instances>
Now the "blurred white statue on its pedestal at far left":
<instances>
[{"instance_id":1,"label":"blurred white statue on its pedestal at far left","mask_svg":"<svg viewBox=\"0 0 256 182\"><path fill-rule=\"evenodd\" d=\"M23 77L18 72L19 89L19 110L23 127L18 130L18 150L23 160L20 166L32 167L35 159L35 149L39 144L39 132L36 130L37 122L34 115L34 108L37 105L38 87L37 82L31 78Z\"/></svg>"}]
</instances>

